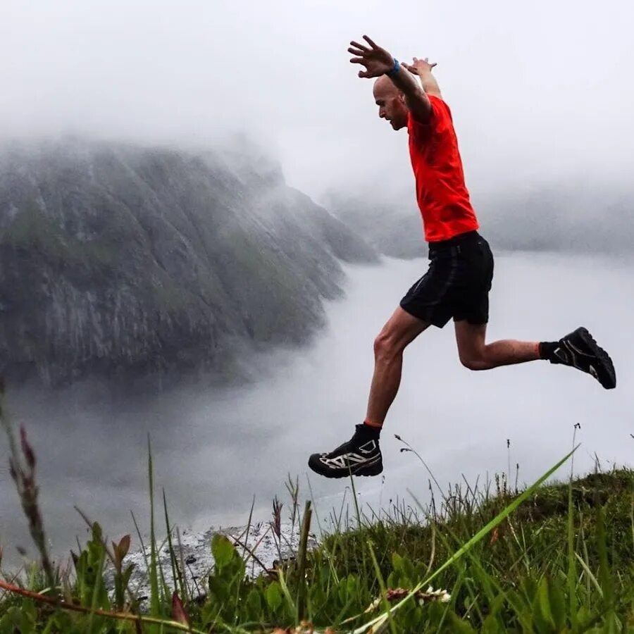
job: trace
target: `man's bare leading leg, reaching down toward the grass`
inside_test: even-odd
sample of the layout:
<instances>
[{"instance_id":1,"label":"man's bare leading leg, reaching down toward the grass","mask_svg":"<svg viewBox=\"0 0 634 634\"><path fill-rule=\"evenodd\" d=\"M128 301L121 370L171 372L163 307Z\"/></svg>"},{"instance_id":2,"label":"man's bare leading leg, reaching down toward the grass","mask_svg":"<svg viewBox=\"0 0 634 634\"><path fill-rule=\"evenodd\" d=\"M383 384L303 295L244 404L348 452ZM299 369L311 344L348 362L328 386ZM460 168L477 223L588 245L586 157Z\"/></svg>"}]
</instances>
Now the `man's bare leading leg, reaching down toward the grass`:
<instances>
[{"instance_id":1,"label":"man's bare leading leg, reaching down toward the grass","mask_svg":"<svg viewBox=\"0 0 634 634\"><path fill-rule=\"evenodd\" d=\"M399 391L404 349L428 328L400 306L374 341L374 375L368 398L366 424L380 427Z\"/></svg>"}]
</instances>

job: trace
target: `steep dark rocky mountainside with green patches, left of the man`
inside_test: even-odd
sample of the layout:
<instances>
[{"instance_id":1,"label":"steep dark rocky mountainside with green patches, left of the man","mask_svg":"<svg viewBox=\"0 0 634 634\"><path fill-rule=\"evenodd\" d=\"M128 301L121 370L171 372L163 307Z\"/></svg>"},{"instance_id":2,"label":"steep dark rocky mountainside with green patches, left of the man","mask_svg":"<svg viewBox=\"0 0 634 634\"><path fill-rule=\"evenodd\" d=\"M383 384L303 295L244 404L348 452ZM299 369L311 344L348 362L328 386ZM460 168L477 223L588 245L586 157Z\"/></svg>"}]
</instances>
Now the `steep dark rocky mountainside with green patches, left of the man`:
<instances>
[{"instance_id":1,"label":"steep dark rocky mountainside with green patches, left of the man","mask_svg":"<svg viewBox=\"0 0 634 634\"><path fill-rule=\"evenodd\" d=\"M0 371L230 373L240 347L323 324L340 259L376 255L255 152L15 144L0 156Z\"/></svg>"}]
</instances>

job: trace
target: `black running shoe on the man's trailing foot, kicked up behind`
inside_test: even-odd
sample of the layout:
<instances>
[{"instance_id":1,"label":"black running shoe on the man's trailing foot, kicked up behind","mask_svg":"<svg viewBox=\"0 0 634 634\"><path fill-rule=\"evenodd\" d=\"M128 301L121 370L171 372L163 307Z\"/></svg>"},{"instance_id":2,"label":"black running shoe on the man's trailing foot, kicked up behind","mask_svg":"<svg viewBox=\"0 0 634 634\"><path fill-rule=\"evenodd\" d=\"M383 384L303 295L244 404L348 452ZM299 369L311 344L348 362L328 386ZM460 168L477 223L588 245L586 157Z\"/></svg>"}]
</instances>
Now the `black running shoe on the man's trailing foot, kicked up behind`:
<instances>
[{"instance_id":1,"label":"black running shoe on the man's trailing foot, kicked up behind","mask_svg":"<svg viewBox=\"0 0 634 634\"><path fill-rule=\"evenodd\" d=\"M606 390L616 387L616 372L609 354L592 338L585 328L577 328L559 340L552 353L551 363L562 363L591 374Z\"/></svg>"}]
</instances>

